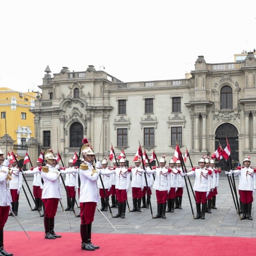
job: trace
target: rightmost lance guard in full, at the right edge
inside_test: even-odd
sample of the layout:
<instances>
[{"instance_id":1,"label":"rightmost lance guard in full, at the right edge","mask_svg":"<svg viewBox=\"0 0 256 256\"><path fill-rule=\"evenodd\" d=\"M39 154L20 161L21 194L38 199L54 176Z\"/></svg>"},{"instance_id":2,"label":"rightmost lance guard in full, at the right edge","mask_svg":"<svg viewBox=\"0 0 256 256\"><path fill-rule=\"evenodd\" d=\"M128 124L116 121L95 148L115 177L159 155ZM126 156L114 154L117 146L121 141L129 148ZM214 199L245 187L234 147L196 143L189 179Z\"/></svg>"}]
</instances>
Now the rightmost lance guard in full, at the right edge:
<instances>
[{"instance_id":1,"label":"rightmost lance guard in full, at the right edge","mask_svg":"<svg viewBox=\"0 0 256 256\"><path fill-rule=\"evenodd\" d=\"M252 220L252 201L253 194L256 191L256 168L250 167L250 157L246 157L242 167L237 167L237 170L230 170L230 175L239 177L239 195L242 202L243 215L241 219Z\"/></svg>"}]
</instances>

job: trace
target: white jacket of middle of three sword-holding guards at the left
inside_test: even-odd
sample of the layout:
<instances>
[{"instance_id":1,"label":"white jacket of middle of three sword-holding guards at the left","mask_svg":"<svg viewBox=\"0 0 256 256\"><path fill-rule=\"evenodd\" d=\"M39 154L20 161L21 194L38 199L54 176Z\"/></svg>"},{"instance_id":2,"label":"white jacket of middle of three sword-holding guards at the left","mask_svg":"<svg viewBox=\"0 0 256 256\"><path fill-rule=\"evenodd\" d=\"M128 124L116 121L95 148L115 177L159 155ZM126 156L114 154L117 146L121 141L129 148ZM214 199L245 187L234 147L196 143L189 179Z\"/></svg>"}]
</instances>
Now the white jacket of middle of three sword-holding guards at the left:
<instances>
[{"instance_id":1,"label":"white jacket of middle of three sword-holding guards at the left","mask_svg":"<svg viewBox=\"0 0 256 256\"><path fill-rule=\"evenodd\" d=\"M46 164L49 167L49 172L41 172L42 178L44 181L42 199L47 198L60 198L61 199L61 190L60 190L60 171L49 164Z\"/></svg>"}]
</instances>

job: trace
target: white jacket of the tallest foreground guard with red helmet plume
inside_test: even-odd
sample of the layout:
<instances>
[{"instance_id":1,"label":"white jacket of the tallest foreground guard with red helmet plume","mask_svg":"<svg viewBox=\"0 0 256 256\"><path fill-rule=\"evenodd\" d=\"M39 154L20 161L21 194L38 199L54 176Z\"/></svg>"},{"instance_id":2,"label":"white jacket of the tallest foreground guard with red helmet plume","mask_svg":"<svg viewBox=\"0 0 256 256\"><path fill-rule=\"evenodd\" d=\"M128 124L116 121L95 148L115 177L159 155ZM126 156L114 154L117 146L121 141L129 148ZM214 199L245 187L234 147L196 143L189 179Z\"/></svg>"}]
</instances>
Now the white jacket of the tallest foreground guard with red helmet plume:
<instances>
[{"instance_id":1,"label":"white jacket of the tallest foreground guard with red helmet plume","mask_svg":"<svg viewBox=\"0 0 256 256\"><path fill-rule=\"evenodd\" d=\"M101 173L100 169L98 169L98 172L93 173L95 171L94 167L91 163L85 162L88 165L88 170L79 169L79 177L81 181L80 185L80 197L79 202L80 203L88 203L88 202L96 202L99 201L99 195L98 195L98 186L97 186L97 180Z\"/></svg>"}]
</instances>

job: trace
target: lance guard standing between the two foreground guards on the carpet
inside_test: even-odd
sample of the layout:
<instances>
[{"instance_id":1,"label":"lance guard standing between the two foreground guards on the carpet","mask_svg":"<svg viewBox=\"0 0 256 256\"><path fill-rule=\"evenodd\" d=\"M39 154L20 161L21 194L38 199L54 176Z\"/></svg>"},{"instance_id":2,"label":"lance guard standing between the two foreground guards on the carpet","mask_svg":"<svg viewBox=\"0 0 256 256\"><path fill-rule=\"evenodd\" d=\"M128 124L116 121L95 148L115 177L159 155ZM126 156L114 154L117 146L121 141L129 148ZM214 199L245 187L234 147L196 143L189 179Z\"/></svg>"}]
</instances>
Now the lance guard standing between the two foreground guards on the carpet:
<instances>
[{"instance_id":1,"label":"lance guard standing between the two foreground guards on the carpet","mask_svg":"<svg viewBox=\"0 0 256 256\"><path fill-rule=\"evenodd\" d=\"M78 171L73 164L73 160L74 159L71 158L68 161L68 168L60 170L61 173L65 173L65 176L66 176L65 185L68 191L68 195L67 195L68 207L65 209L65 211L73 211L75 207L75 192L76 192Z\"/></svg>"}]
</instances>

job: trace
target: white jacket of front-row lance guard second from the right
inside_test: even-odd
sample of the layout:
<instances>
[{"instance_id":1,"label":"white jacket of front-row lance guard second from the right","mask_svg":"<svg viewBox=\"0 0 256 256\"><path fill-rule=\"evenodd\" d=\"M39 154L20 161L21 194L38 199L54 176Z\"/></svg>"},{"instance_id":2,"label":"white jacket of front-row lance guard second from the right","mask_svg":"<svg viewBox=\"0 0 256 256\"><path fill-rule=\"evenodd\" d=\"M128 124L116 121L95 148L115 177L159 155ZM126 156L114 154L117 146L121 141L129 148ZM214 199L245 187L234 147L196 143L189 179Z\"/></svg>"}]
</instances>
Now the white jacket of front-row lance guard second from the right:
<instances>
[{"instance_id":1,"label":"white jacket of front-row lance guard second from the right","mask_svg":"<svg viewBox=\"0 0 256 256\"><path fill-rule=\"evenodd\" d=\"M187 176L195 176L193 189L198 192L207 192L211 189L211 170L207 168L193 168Z\"/></svg>"}]
</instances>

